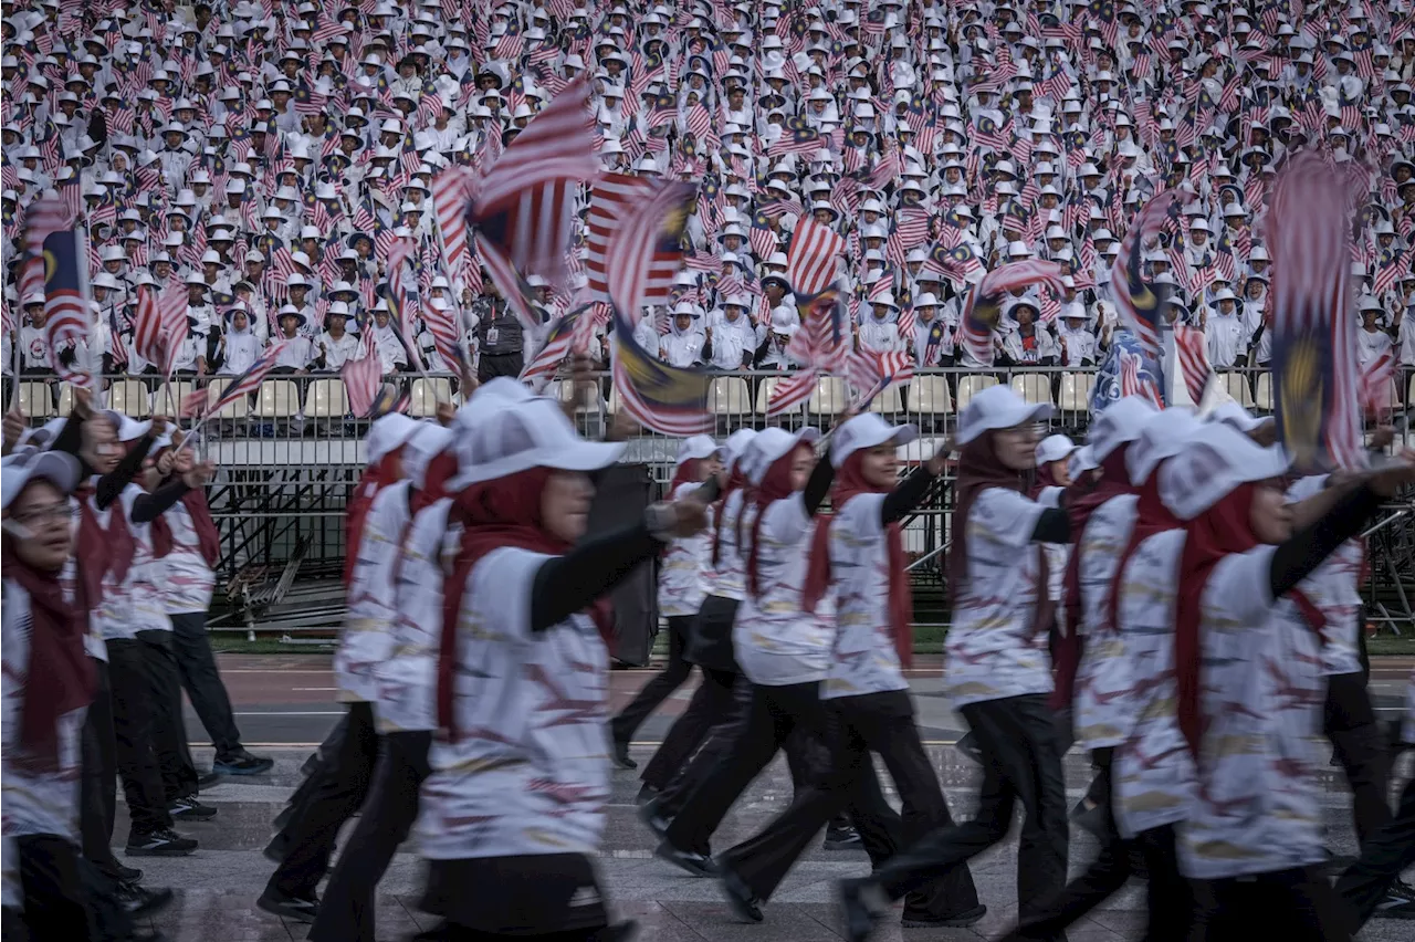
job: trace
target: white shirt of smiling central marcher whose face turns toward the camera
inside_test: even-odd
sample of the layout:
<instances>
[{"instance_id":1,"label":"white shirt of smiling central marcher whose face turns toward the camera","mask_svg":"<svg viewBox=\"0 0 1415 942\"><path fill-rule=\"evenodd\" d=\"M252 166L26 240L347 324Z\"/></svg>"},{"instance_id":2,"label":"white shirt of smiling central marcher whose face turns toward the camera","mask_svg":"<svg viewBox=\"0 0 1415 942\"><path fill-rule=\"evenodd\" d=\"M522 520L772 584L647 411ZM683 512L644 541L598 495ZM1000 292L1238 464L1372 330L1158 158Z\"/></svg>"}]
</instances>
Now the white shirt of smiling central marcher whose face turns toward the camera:
<instances>
[{"instance_id":1,"label":"white shirt of smiling central marcher whose face turns toward the camera","mask_svg":"<svg viewBox=\"0 0 1415 942\"><path fill-rule=\"evenodd\" d=\"M907 690L889 610L889 537L883 494L850 498L831 519L835 639L821 697Z\"/></svg>"}]
</instances>

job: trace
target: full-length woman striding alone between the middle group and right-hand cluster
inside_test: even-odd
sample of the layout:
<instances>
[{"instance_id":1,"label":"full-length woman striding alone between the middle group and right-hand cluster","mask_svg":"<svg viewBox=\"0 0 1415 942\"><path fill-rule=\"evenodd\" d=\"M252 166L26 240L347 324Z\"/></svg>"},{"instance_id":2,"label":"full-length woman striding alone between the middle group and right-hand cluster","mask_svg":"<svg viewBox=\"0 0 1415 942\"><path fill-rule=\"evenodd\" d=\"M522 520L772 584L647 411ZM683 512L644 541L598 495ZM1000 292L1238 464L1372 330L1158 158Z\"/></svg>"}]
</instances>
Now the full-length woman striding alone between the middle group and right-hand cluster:
<instances>
[{"instance_id":1,"label":"full-length woman striding alone between the middle group and right-hand cluster","mask_svg":"<svg viewBox=\"0 0 1415 942\"><path fill-rule=\"evenodd\" d=\"M1065 543L1065 511L1026 496L1036 423L1051 414L1006 386L975 395L958 416L955 588L944 692L968 720L983 765L972 820L918 837L869 877L845 880L846 938L863 942L890 901L920 890L1007 836L1015 805L1026 818L1017 849L1023 919L1065 884L1067 819L1061 751L1047 696L1047 571L1040 543Z\"/></svg>"}]
</instances>

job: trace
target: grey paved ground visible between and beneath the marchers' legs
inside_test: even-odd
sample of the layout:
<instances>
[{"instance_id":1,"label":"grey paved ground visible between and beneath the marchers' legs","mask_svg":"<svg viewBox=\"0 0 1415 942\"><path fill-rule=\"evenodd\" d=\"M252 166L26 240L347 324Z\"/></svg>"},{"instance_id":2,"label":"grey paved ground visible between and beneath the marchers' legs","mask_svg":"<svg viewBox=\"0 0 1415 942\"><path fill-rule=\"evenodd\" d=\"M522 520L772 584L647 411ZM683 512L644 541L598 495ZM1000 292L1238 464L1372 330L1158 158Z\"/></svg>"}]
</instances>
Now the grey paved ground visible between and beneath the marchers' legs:
<instances>
[{"instance_id":1,"label":"grey paved ground visible between and beneath the marchers' legs","mask_svg":"<svg viewBox=\"0 0 1415 942\"><path fill-rule=\"evenodd\" d=\"M1373 689L1385 716L1398 713L1405 679L1415 659L1387 659L1377 665ZM972 786L978 768L962 758L951 743L959 735L961 723L938 696L937 659L924 659L911 683L917 694L920 723L930 740L930 754L940 772L955 816L972 810ZM310 745L318 743L338 719L328 659L321 656L224 656L222 670L231 687L245 738L252 747L276 757L269 775L226 781L202 795L202 801L221 809L209 823L191 823L183 830L202 842L192 857L177 861L139 860L147 871L149 885L181 887L181 895L156 925L180 942L286 942L304 939L304 926L283 924L255 908L266 878L273 870L260 853L270 829L269 822L300 781L299 767ZM633 670L614 675L616 702L627 700L651 676ZM665 704L640 733L633 754L642 762L654 750L672 716L686 703L685 687ZM190 719L192 741L201 743L204 731ZM200 765L209 762L209 750L197 750ZM1402 769L1405 771L1405 769ZM1078 798L1090 778L1081 755L1067 757L1067 785ZM886 777L887 785L887 777ZM808 854L782 884L766 908L763 925L740 925L713 881L695 880L655 860L648 832L634 818L633 772L614 772L614 795L608 809L608 827L599 861L613 908L642 925L642 942L835 942L838 932L833 905L833 881L867 871L863 853L828 853L816 849ZM1326 823L1329 844L1336 853L1354 853L1350 829L1350 803L1337 777L1327 782ZM747 792L717 835L717 847L727 847L760 827L790 801L790 778L777 762ZM117 837L126 836L126 819L119 822ZM410 850L410 849L408 849ZM1084 867L1095 853L1095 843L1074 835L1073 870ZM979 897L989 907L988 917L972 929L903 931L893 926L880 934L884 942L976 942L999 936L1016 919L1016 840L1010 840L972 864ZM412 853L399 854L381 887L379 941L406 939L432 926L432 919L417 908L422 877ZM468 888L474 891L474 888ZM1071 942L1118 942L1138 939L1143 928L1142 887L1132 885L1112 898L1094 918L1075 926ZM1409 942L1415 925L1408 922L1373 922L1361 942Z\"/></svg>"}]
</instances>

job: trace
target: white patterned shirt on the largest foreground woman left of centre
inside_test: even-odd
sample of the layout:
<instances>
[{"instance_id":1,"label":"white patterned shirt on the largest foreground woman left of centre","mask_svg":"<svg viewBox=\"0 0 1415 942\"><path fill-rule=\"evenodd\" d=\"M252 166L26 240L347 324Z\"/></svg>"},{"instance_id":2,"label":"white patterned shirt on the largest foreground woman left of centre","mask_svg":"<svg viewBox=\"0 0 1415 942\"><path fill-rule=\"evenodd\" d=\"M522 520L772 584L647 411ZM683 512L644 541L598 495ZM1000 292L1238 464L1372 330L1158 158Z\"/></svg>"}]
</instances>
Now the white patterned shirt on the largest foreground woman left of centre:
<instances>
[{"instance_id":1,"label":"white patterned shirt on the largest foreground woman left of centre","mask_svg":"<svg viewBox=\"0 0 1415 942\"><path fill-rule=\"evenodd\" d=\"M467 576L458 735L433 743L417 820L429 860L599 850L610 798L608 653L583 612L531 631L535 576L550 559L498 549Z\"/></svg>"}]
</instances>

